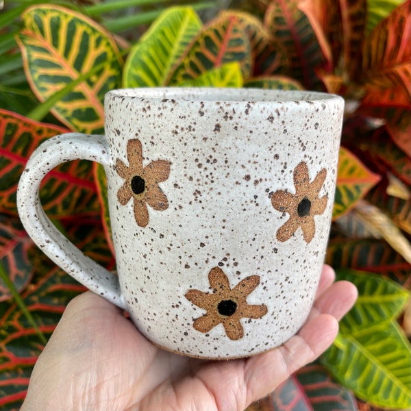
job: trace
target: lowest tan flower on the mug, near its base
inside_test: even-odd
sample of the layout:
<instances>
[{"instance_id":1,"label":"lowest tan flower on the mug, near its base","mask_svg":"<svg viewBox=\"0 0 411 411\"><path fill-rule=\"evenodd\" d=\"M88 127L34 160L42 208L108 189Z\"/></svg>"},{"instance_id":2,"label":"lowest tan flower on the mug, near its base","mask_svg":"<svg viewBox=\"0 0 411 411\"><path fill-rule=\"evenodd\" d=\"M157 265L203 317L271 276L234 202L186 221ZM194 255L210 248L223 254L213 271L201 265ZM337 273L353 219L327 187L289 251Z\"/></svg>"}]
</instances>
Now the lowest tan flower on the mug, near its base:
<instances>
[{"instance_id":1,"label":"lowest tan flower on the mug, near its base","mask_svg":"<svg viewBox=\"0 0 411 411\"><path fill-rule=\"evenodd\" d=\"M259 319L267 312L266 306L250 306L247 296L260 284L260 276L251 275L242 279L233 289L227 275L219 267L208 274L212 292L188 290L186 299L195 306L206 310L206 314L195 319L193 327L200 332L209 332L220 323L230 340L239 340L244 335L240 319Z\"/></svg>"}]
</instances>

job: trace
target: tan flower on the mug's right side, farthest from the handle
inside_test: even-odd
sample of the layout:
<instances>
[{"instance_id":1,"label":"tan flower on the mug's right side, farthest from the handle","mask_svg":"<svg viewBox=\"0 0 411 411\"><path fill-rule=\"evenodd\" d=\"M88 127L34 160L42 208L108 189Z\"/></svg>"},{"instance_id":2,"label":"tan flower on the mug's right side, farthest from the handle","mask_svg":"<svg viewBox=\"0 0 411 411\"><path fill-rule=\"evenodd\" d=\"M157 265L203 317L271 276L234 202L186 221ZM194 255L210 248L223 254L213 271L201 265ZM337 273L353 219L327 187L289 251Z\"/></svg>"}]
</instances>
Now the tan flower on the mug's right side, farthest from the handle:
<instances>
[{"instance_id":1,"label":"tan flower on the mug's right side, farthest from the handle","mask_svg":"<svg viewBox=\"0 0 411 411\"><path fill-rule=\"evenodd\" d=\"M275 210L290 214L288 221L277 230L277 240L289 240L298 227L303 230L303 238L310 242L315 234L314 216L323 214L327 206L327 196L319 198L319 192L324 184L327 170L322 169L310 183L308 167L300 162L294 169L295 194L287 190L277 190L271 203Z\"/></svg>"}]
</instances>

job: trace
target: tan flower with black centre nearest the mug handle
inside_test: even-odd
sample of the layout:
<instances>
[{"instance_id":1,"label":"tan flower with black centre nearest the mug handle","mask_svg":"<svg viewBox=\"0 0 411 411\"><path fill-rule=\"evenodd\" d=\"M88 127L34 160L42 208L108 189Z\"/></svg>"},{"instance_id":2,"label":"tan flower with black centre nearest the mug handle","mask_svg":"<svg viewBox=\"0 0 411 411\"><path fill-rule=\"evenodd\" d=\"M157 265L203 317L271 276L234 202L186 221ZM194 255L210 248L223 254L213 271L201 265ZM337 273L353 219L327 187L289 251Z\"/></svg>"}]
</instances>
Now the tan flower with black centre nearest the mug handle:
<instances>
[{"instance_id":1,"label":"tan flower with black centre nearest the mug handle","mask_svg":"<svg viewBox=\"0 0 411 411\"><path fill-rule=\"evenodd\" d=\"M158 183L169 178L170 163L158 160L143 167L141 142L136 138L127 142L127 160L129 166L116 160L116 172L125 179L117 199L125 206L134 197L134 218L140 227L145 227L149 223L147 204L158 211L169 208L169 201Z\"/></svg>"}]
</instances>

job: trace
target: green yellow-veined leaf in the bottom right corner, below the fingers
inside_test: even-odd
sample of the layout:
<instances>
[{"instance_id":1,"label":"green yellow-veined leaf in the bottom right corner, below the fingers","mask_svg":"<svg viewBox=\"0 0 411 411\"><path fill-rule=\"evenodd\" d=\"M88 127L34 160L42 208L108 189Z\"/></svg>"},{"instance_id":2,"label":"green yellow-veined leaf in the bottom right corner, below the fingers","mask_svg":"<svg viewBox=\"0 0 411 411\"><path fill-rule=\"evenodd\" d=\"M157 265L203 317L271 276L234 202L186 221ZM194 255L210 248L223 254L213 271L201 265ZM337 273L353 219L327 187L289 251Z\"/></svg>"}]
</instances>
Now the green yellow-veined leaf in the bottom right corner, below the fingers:
<instances>
[{"instance_id":1,"label":"green yellow-veined leaf in the bottom right corner, below the fingers","mask_svg":"<svg viewBox=\"0 0 411 411\"><path fill-rule=\"evenodd\" d=\"M379 407L411 407L411 347L395 321L340 333L321 362L359 398Z\"/></svg>"}]
</instances>

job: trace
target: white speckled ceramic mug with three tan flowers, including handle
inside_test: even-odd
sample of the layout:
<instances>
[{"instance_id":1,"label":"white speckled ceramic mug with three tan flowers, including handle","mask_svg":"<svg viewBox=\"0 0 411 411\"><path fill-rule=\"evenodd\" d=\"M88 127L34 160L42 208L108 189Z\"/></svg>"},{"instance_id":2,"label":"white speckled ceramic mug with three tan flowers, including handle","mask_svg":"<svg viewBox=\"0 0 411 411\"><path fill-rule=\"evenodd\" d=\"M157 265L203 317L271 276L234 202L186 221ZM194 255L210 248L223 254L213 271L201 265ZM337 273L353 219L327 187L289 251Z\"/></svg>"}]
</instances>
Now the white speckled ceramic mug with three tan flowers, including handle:
<instances>
[{"instance_id":1,"label":"white speckled ceramic mug with three tan flowers, including handle","mask_svg":"<svg viewBox=\"0 0 411 411\"><path fill-rule=\"evenodd\" d=\"M105 136L32 155L21 221L154 344L199 358L284 343L312 306L327 247L343 99L256 89L140 88L105 97ZM118 276L53 227L38 199L61 162L103 164Z\"/></svg>"}]
</instances>

